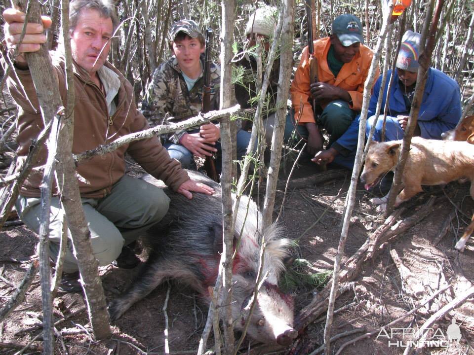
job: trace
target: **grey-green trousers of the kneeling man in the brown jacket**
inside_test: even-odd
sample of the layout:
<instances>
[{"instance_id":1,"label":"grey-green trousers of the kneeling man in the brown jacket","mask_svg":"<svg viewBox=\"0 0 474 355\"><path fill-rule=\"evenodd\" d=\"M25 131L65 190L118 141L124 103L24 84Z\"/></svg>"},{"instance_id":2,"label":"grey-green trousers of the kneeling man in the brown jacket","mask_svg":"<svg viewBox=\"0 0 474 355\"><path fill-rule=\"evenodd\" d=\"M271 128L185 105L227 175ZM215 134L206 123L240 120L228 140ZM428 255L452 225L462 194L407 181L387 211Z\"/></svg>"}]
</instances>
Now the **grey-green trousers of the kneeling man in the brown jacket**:
<instances>
[{"instance_id":1,"label":"grey-green trousers of the kneeling man in the brown jacket","mask_svg":"<svg viewBox=\"0 0 474 355\"><path fill-rule=\"evenodd\" d=\"M99 265L115 260L124 245L135 241L168 212L169 198L162 189L144 180L123 176L101 199L83 198L82 208L90 230L90 241ZM40 199L20 196L16 208L22 221L33 231L40 231ZM61 238L64 210L59 197L51 199L49 253L56 260ZM78 264L73 254L71 234L64 260L64 272L72 273Z\"/></svg>"}]
</instances>

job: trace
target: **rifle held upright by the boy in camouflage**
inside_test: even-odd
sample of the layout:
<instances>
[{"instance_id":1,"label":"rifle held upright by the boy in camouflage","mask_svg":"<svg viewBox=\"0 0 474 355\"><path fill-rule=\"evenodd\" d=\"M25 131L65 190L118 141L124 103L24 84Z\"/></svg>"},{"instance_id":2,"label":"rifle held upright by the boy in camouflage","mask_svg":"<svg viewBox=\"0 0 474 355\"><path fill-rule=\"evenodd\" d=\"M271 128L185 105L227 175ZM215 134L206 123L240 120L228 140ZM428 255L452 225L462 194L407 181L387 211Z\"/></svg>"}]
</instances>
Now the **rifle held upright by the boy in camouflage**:
<instances>
[{"instance_id":1,"label":"rifle held upright by the boy in camouflage","mask_svg":"<svg viewBox=\"0 0 474 355\"><path fill-rule=\"evenodd\" d=\"M202 102L201 112L206 113L211 109L211 47L213 31L206 29L206 50L204 54L204 74L202 84ZM219 175L216 171L216 162L214 156L206 156L204 161L204 170L207 176L214 181L219 182Z\"/></svg>"}]
</instances>

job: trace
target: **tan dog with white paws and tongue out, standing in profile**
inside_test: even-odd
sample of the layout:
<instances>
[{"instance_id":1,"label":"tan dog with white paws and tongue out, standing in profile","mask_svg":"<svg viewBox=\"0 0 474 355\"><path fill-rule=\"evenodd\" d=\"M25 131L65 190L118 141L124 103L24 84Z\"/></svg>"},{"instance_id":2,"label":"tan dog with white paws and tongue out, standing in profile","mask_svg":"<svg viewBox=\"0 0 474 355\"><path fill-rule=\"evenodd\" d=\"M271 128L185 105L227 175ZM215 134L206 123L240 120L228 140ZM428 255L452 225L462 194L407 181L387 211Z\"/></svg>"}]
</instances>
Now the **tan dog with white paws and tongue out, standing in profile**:
<instances>
[{"instance_id":1,"label":"tan dog with white paws and tongue out, standing in profile","mask_svg":"<svg viewBox=\"0 0 474 355\"><path fill-rule=\"evenodd\" d=\"M365 158L364 170L360 176L360 180L365 183L366 189L377 184L387 172L395 170L401 143L402 141L371 143ZM414 137L411 141L411 148L403 171L403 189L396 197L395 207L423 191L422 185L446 184L462 178L471 180L470 193L474 199L473 144ZM379 211L385 211L387 198L388 195L371 201L376 205L380 205ZM466 241L467 238L463 245L458 242L456 249L464 249Z\"/></svg>"}]
</instances>

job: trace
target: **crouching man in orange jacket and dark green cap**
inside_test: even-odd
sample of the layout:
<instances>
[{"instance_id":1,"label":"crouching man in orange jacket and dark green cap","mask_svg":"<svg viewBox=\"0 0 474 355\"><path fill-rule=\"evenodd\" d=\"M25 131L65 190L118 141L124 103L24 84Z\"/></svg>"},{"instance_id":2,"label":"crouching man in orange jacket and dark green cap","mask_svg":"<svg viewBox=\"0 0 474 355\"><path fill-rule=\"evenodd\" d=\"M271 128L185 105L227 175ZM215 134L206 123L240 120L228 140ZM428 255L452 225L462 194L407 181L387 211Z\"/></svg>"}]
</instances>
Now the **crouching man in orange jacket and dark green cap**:
<instances>
[{"instance_id":1,"label":"crouching man in orange jacket and dark green cap","mask_svg":"<svg viewBox=\"0 0 474 355\"><path fill-rule=\"evenodd\" d=\"M305 47L290 92L296 129L300 136L308 139L307 151L315 156L313 160L319 164L332 161L337 155L334 162L346 165L344 157L350 151L335 141L346 132L362 108L362 93L373 52L363 45L362 25L354 15L338 16L331 32L329 37L314 41L316 82L311 83L314 78L310 78L310 55ZM375 79L378 75L377 71ZM318 117L313 111L313 100L316 111L320 112ZM326 150L323 150L319 127L324 127L330 135ZM327 159L329 156L332 159Z\"/></svg>"}]
</instances>

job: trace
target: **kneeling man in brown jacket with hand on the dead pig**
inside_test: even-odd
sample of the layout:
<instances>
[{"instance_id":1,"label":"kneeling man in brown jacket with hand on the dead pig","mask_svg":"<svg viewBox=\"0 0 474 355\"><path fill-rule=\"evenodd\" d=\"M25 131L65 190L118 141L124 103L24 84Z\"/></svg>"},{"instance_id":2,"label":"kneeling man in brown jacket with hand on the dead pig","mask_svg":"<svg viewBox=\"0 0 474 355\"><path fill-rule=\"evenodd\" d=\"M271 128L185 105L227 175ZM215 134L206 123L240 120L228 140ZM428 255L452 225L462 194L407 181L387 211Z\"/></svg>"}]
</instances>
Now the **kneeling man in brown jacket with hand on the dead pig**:
<instances>
[{"instance_id":1,"label":"kneeling man in brown jacket with hand on the dead pig","mask_svg":"<svg viewBox=\"0 0 474 355\"><path fill-rule=\"evenodd\" d=\"M149 128L145 117L137 109L133 88L123 75L108 61L111 38L118 25L114 8L102 0L75 0L70 4L70 35L74 60L74 140L73 153L93 149L118 137ZM25 14L6 9L4 32L8 49L18 44ZM40 49L46 41L43 29L51 25L49 18L42 24L30 23L19 53L14 59L18 79L8 78L8 88L19 111L18 155L24 160L32 140L43 129L38 98L28 65L22 53ZM66 101L66 74L64 55L50 52L61 98ZM24 91L21 87L24 87ZM25 96L26 93L26 96ZM30 102L34 107L31 106ZM46 147L42 148L39 165L44 164ZM178 161L170 159L158 137L121 145L117 150L94 156L81 162L77 168L82 207L91 234L91 244L100 265L113 260L119 267L136 266L138 259L126 246L151 225L158 222L168 210L169 199L161 189L143 180L125 175L125 153L155 178L163 180L175 191L192 198L191 191L212 194L213 189L196 183L181 169ZM32 172L21 188L16 203L25 224L35 232L40 229L41 173ZM50 210L50 256L58 254L64 210L55 187ZM60 288L80 292L79 269L69 240ZM123 248L123 249L122 249Z\"/></svg>"}]
</instances>

